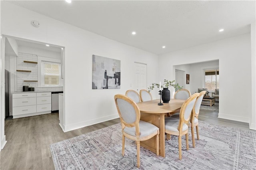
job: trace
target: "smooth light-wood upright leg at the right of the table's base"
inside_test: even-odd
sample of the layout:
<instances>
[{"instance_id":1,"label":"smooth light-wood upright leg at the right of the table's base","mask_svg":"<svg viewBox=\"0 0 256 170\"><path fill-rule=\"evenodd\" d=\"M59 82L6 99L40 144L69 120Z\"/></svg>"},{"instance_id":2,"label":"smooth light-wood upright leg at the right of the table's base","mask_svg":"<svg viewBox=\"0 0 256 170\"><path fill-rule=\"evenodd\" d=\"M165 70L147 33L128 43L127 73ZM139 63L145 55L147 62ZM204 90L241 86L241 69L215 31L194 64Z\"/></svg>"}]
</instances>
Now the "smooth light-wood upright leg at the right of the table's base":
<instances>
[{"instance_id":1,"label":"smooth light-wood upright leg at the right of the table's base","mask_svg":"<svg viewBox=\"0 0 256 170\"><path fill-rule=\"evenodd\" d=\"M162 157L165 157L165 139L164 139L164 114L160 115L160 132L159 132L159 154Z\"/></svg>"}]
</instances>

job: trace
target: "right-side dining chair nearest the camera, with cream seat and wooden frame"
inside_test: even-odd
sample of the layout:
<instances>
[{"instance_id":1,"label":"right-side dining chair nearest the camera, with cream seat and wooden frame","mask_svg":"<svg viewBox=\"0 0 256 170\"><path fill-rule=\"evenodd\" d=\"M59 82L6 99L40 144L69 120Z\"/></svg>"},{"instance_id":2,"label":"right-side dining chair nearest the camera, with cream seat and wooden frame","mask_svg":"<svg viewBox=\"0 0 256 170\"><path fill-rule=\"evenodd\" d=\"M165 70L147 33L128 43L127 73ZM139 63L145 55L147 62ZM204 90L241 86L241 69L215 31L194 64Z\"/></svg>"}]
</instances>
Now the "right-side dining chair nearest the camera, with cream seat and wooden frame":
<instances>
[{"instance_id":1,"label":"right-side dining chair nearest the camera, with cream seat and wooden frame","mask_svg":"<svg viewBox=\"0 0 256 170\"><path fill-rule=\"evenodd\" d=\"M188 150L188 121L191 117L192 109L195 105L196 98L198 97L199 93L195 93L194 95L190 96L186 101L183 103L180 109L180 119L176 119L173 117L166 117L165 118L165 130L166 133L166 140L170 140L170 135L178 136L178 147L179 147L179 159L182 159L181 154L181 137L185 134L186 135L186 149Z\"/></svg>"}]
</instances>

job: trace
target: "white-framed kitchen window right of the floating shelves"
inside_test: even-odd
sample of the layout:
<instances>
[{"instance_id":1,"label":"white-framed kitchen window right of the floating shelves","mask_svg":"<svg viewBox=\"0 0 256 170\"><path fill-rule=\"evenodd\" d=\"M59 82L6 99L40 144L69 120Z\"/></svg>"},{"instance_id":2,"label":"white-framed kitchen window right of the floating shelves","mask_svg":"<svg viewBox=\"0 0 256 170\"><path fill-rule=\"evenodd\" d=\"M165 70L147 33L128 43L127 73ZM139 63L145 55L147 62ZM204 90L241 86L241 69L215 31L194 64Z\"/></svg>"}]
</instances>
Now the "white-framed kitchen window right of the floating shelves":
<instances>
[{"instance_id":1,"label":"white-framed kitchen window right of the floating shelves","mask_svg":"<svg viewBox=\"0 0 256 170\"><path fill-rule=\"evenodd\" d=\"M48 61L41 62L41 83L42 86L62 86L60 79L60 63Z\"/></svg>"}]
</instances>

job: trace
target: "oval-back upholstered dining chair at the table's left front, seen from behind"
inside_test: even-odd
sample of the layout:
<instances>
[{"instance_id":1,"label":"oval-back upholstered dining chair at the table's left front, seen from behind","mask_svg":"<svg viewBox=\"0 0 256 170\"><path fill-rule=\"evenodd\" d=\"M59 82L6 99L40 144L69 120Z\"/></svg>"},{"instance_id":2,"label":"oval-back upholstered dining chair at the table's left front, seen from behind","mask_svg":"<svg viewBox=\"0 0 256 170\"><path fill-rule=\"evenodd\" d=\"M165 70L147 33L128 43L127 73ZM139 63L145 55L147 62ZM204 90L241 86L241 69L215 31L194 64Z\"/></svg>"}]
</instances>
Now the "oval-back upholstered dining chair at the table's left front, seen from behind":
<instances>
[{"instance_id":1,"label":"oval-back upholstered dining chair at the table's left front, seen from behind","mask_svg":"<svg viewBox=\"0 0 256 170\"><path fill-rule=\"evenodd\" d=\"M125 137L137 144L137 167L140 167L140 141L156 136L156 155L159 156L159 128L151 123L140 121L138 105L125 95L114 96L116 108L122 125L122 156L124 156Z\"/></svg>"}]
</instances>

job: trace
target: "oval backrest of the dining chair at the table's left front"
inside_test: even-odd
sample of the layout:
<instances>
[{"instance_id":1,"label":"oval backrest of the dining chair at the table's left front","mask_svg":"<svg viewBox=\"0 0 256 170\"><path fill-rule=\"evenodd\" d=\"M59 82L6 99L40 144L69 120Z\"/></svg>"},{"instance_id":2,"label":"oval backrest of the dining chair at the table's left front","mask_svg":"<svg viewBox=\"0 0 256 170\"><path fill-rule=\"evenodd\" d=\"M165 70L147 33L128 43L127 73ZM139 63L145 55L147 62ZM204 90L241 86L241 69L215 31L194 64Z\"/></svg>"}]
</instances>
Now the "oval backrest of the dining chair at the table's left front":
<instances>
[{"instance_id":1,"label":"oval backrest of the dining chair at the table's left front","mask_svg":"<svg viewBox=\"0 0 256 170\"><path fill-rule=\"evenodd\" d=\"M122 129L125 127L134 127L136 129L136 136L140 135L139 121L140 121L140 110L138 105L129 97L125 95L115 95L114 96L116 108L120 121L122 124ZM137 134L138 133L138 134Z\"/></svg>"}]
</instances>

